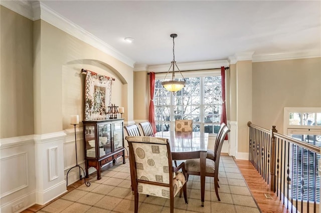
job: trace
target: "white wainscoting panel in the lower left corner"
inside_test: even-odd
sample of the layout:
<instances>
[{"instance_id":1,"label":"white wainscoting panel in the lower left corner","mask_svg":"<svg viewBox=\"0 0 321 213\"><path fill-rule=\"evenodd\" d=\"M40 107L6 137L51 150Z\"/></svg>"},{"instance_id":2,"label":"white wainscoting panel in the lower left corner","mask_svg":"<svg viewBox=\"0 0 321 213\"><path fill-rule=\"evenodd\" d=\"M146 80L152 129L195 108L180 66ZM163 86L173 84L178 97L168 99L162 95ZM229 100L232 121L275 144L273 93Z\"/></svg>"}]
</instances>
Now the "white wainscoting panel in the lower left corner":
<instances>
[{"instance_id":1,"label":"white wainscoting panel in the lower left corner","mask_svg":"<svg viewBox=\"0 0 321 213\"><path fill-rule=\"evenodd\" d=\"M36 202L33 135L0 139L0 212L21 211ZM19 204L18 204L19 203Z\"/></svg>"}]
</instances>

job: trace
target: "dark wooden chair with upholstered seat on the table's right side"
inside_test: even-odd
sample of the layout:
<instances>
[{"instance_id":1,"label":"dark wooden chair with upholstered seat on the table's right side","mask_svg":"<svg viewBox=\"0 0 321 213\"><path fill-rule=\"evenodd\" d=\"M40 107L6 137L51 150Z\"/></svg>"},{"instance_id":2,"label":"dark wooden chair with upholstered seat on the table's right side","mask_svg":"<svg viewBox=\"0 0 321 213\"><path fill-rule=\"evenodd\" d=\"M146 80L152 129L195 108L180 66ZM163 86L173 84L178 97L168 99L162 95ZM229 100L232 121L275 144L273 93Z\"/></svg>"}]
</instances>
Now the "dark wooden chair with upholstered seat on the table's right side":
<instances>
[{"instance_id":1,"label":"dark wooden chair with upholstered seat on the table's right side","mask_svg":"<svg viewBox=\"0 0 321 213\"><path fill-rule=\"evenodd\" d=\"M221 156L221 150L223 146L223 142L225 139L225 136L230 131L230 129L227 126L223 127L222 134L219 136L218 140L218 146L216 150L216 159L215 161L212 159L206 158L206 176L214 177L214 187L215 187L215 193L216 197L219 201L221 201L219 192L218 192L218 173L219 173L219 165L220 165L220 156ZM185 161L185 168L187 172L187 179L190 174L193 175L201 175L201 165L200 165L200 159L187 159Z\"/></svg>"}]
</instances>

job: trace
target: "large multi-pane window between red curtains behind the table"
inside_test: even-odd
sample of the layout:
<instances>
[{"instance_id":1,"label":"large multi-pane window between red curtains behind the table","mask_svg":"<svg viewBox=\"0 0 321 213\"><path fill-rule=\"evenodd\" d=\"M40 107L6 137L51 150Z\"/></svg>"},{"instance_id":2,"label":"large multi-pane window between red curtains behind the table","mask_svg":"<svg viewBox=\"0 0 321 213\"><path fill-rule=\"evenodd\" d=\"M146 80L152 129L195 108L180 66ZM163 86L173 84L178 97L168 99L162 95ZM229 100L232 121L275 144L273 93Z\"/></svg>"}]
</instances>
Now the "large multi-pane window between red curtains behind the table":
<instances>
[{"instance_id":1,"label":"large multi-pane window between red curtains behind the table","mask_svg":"<svg viewBox=\"0 0 321 213\"><path fill-rule=\"evenodd\" d=\"M219 72L204 76L189 75L185 77L186 86L175 94L162 86L163 79L155 79L154 107L157 131L169 131L171 124L174 127L176 119L193 119L193 131L218 132L222 110Z\"/></svg>"}]
</instances>

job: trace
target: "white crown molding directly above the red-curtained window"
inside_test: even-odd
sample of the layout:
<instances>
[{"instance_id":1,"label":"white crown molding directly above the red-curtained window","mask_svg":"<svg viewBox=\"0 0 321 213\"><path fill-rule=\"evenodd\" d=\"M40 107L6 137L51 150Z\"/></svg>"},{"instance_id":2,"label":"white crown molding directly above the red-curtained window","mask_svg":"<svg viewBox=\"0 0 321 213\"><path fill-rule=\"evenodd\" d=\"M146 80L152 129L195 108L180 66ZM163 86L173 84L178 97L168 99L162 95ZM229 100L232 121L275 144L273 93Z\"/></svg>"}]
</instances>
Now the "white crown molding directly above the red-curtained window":
<instances>
[{"instance_id":1,"label":"white crown molding directly above the red-curtained window","mask_svg":"<svg viewBox=\"0 0 321 213\"><path fill-rule=\"evenodd\" d=\"M181 71L186 70L200 70L200 69L216 69L221 68L221 66L229 66L228 60L210 60L210 61L199 61L199 62L187 62L187 63L177 63L177 66ZM148 66L148 71L153 72L165 72L168 71L171 64L160 64Z\"/></svg>"}]
</instances>

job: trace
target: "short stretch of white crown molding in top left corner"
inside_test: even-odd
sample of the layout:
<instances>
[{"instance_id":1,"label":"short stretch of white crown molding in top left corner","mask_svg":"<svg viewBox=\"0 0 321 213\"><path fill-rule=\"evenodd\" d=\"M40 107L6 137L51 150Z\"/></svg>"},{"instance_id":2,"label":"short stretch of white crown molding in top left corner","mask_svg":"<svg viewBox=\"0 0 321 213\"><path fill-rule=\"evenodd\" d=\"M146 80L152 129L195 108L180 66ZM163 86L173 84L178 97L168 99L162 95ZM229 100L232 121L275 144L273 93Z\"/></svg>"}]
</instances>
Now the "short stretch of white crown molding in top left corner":
<instances>
[{"instance_id":1,"label":"short stretch of white crown molding in top left corner","mask_svg":"<svg viewBox=\"0 0 321 213\"><path fill-rule=\"evenodd\" d=\"M11 9L18 14L34 20L32 3L28 0L0 0L0 4Z\"/></svg>"}]
</instances>

